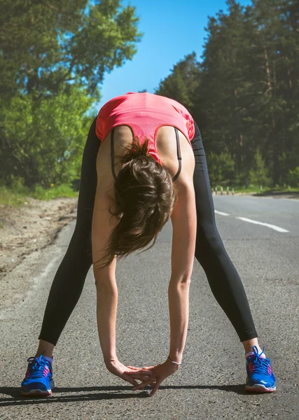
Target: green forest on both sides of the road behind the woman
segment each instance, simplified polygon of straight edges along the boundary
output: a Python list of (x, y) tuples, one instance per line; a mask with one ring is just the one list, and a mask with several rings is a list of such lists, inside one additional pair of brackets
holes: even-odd
[[(235, 0), (209, 17), (156, 94), (202, 132), (211, 186), (299, 186), (298, 0)], [(137, 10), (118, 0), (2, 0), (0, 183), (70, 183), (105, 73), (137, 52)], [(100, 42), (98, 41), (100, 40)]]

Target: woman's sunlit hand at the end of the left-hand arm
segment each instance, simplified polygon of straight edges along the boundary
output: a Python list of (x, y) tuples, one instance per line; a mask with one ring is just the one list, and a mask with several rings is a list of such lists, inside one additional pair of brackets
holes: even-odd
[[(151, 368), (154, 366), (148, 368), (144, 367), (143, 369), (133, 366), (127, 367), (116, 359), (109, 360), (109, 362), (106, 363), (106, 367), (109, 372), (115, 374), (121, 379), (124, 379), (124, 381), (130, 382), (130, 384), (134, 386), (138, 386), (138, 382), (135, 379), (139, 379), (139, 381), (148, 380), (152, 375)], [(134, 377), (132, 375), (134, 375)]]

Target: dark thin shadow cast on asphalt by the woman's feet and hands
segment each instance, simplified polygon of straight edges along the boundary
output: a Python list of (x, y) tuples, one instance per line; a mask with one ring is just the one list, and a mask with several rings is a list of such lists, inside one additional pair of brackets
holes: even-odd
[[(148, 387), (148, 390), (151, 388)], [(238, 385), (186, 385), (186, 386), (160, 386), (159, 391), (164, 389), (218, 389), (219, 391), (233, 392), (241, 395), (249, 395), (244, 391), (244, 384)], [(131, 391), (132, 386), (88, 386), (81, 388), (55, 388), (53, 395), (49, 397), (27, 398), (20, 395), (20, 388), (13, 386), (0, 387), (0, 393), (10, 395), (10, 398), (0, 398), (0, 407), (13, 405), (48, 404), (52, 402), (76, 402), (90, 400), (118, 400), (127, 398), (147, 398), (146, 391), (123, 393)], [(90, 393), (91, 391), (95, 393)], [(75, 393), (75, 395), (65, 395)], [(79, 393), (79, 394), (78, 394)], [(83, 394), (82, 394), (83, 393)]]

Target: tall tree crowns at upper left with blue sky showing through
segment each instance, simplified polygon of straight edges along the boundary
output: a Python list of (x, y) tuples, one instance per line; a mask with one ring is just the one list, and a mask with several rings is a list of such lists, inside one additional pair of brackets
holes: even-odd
[(120, 0), (2, 0), (1, 91), (39, 97), (76, 83), (98, 97), (104, 73), (136, 52), (134, 12)]

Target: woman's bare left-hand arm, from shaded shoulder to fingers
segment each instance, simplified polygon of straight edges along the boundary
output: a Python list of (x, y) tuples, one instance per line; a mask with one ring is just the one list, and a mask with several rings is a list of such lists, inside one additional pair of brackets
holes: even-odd
[[(115, 195), (113, 193), (113, 181), (109, 173), (102, 169), (98, 170), (106, 162), (100, 162), (99, 153), (97, 155), (97, 190), (95, 194), (95, 204), (92, 217), (92, 265), (97, 288), (97, 328), (99, 332), (99, 342), (101, 344), (104, 361), (107, 369), (116, 376), (137, 386), (137, 381), (130, 376), (134, 374), (137, 379), (151, 377), (152, 372), (142, 370), (137, 367), (127, 367), (120, 363), (116, 355), (116, 312), (118, 305), (118, 289), (116, 286), (116, 258), (113, 259), (108, 267), (101, 268), (101, 258), (104, 256), (111, 231), (116, 227), (118, 219), (111, 216), (111, 211), (115, 211)], [(98, 263), (99, 262), (99, 263)]]

